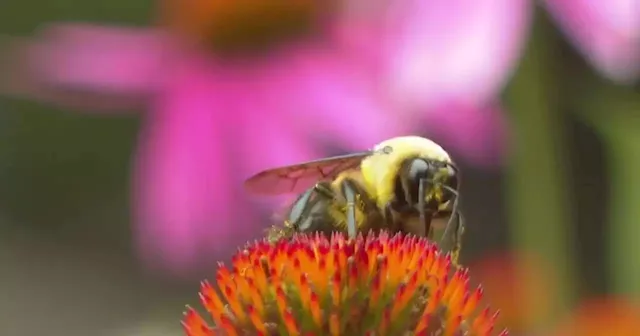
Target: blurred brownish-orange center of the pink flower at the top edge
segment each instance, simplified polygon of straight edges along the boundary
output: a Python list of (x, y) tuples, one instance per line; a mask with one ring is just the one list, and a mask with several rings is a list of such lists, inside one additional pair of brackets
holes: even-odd
[(316, 32), (327, 0), (168, 0), (166, 23), (217, 53), (255, 52)]

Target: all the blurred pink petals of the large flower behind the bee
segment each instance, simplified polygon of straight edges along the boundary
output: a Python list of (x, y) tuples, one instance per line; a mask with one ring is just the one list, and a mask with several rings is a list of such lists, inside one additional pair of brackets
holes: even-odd
[(259, 234), (238, 226), (259, 222), (247, 218), (240, 181), (317, 157), (313, 139), (362, 150), (424, 130), (415, 119), (424, 116), (459, 153), (492, 161), (479, 143), (502, 130), (484, 119), (499, 116), (492, 99), (525, 40), (529, 3), (363, 1), (340, 2), (315, 38), (248, 58), (205, 43), (226, 41), (207, 40), (215, 21), (207, 13), (237, 28), (224, 26), (224, 10), (254, 0), (170, 1), (186, 10), (165, 11), (162, 28), (53, 25), (12, 49), (2, 90), (92, 110), (148, 106), (134, 171), (136, 237), (147, 262), (187, 269), (207, 249), (236, 245), (228, 238), (237, 232)]

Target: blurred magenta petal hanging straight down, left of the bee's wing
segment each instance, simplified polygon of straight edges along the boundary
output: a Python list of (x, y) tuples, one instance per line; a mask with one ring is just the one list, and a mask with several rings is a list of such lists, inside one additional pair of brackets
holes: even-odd
[[(151, 266), (185, 271), (211, 245), (228, 247), (233, 134), (220, 122), (224, 95), (207, 72), (174, 64), (166, 91), (154, 102), (141, 133), (135, 171), (137, 240)], [(212, 256), (214, 257), (214, 256)]]

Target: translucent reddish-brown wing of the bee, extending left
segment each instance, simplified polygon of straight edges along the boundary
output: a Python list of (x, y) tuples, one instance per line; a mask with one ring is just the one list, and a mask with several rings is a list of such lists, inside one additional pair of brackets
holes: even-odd
[(330, 180), (345, 170), (357, 168), (375, 151), (347, 154), (262, 171), (247, 179), (245, 188), (254, 194), (300, 193), (316, 182)]

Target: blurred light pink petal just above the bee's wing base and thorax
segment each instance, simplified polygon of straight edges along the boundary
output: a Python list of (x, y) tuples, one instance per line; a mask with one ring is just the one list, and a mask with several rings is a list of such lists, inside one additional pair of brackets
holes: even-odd
[(309, 50), (290, 60), (286, 76), (277, 82), (277, 97), (289, 105), (283, 110), (296, 120), (298, 129), (346, 148), (365, 150), (413, 125), (398, 118), (376, 86), (377, 78), (352, 56)]

